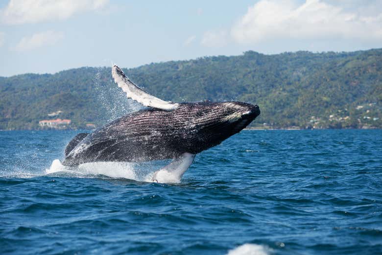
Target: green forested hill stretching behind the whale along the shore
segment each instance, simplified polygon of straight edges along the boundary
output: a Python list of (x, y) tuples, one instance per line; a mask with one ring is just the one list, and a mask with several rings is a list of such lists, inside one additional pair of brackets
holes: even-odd
[[(252, 126), (382, 128), (382, 49), (299, 51), (170, 61), (124, 70), (148, 93), (171, 101), (235, 100), (261, 109)], [(111, 68), (0, 77), (0, 129), (37, 129), (62, 111), (72, 128), (97, 126), (136, 104), (112, 82)], [(55, 116), (57, 117), (57, 116)]]

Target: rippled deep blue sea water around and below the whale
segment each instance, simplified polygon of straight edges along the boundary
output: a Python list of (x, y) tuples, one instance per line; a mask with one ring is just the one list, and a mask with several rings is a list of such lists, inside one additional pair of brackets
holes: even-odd
[(382, 254), (382, 130), (242, 131), (180, 184), (47, 174), (74, 134), (0, 132), (0, 254)]

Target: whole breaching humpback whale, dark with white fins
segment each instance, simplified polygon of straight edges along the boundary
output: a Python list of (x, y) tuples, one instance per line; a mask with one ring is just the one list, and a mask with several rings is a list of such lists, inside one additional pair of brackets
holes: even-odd
[(152, 180), (177, 181), (197, 153), (239, 133), (260, 115), (259, 106), (242, 102), (164, 101), (143, 91), (116, 65), (112, 76), (128, 98), (147, 108), (76, 135), (65, 149), (63, 165), (173, 159)]

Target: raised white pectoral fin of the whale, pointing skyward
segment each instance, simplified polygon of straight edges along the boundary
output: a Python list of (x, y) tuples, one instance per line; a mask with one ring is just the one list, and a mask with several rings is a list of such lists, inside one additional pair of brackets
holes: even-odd
[(118, 87), (126, 93), (127, 98), (131, 98), (144, 106), (158, 108), (165, 111), (173, 111), (179, 106), (178, 103), (164, 101), (145, 92), (143, 89), (130, 81), (130, 79), (126, 77), (125, 73), (117, 65), (113, 66), (112, 75), (114, 81), (118, 84)]

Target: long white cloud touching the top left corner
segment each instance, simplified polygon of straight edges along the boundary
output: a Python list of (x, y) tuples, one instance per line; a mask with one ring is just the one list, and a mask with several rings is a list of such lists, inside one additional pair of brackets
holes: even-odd
[(75, 13), (103, 7), (109, 0), (10, 0), (0, 11), (7, 24), (65, 20)]

